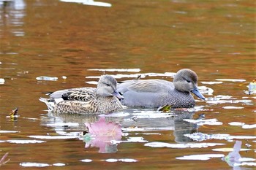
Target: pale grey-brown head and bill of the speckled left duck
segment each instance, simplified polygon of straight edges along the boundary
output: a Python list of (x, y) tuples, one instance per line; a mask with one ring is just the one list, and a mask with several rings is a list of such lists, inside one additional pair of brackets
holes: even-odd
[(97, 85), (97, 94), (99, 96), (111, 97), (116, 96), (119, 99), (124, 98), (121, 96), (116, 90), (116, 79), (110, 75), (102, 75), (99, 78), (99, 82)]

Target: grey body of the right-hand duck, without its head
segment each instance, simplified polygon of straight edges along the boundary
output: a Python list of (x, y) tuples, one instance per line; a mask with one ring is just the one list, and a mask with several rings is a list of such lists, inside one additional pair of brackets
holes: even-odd
[(166, 80), (129, 80), (118, 85), (124, 99), (121, 104), (127, 107), (194, 107), (190, 93), (174, 88), (173, 82)]

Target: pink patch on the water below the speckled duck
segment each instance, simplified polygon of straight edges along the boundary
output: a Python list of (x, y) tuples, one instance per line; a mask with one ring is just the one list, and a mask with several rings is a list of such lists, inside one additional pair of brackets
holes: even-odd
[(99, 152), (117, 152), (117, 144), (112, 140), (121, 140), (121, 125), (118, 123), (106, 122), (105, 117), (99, 117), (95, 123), (85, 123), (88, 133), (83, 136), (86, 142), (85, 147), (99, 147)]

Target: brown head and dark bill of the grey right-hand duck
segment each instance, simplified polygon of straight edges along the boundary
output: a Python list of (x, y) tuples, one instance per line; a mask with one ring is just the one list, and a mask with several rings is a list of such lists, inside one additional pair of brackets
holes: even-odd
[(173, 79), (173, 85), (176, 90), (182, 92), (194, 93), (198, 98), (205, 99), (197, 88), (198, 77), (191, 69), (181, 69), (177, 72)]

